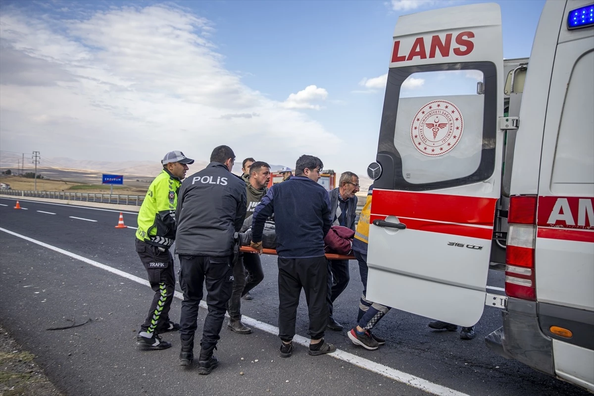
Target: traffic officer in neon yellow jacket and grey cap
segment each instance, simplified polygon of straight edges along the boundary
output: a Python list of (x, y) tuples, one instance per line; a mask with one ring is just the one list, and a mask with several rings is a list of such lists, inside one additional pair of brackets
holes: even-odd
[(184, 156), (181, 151), (170, 151), (161, 163), (163, 170), (149, 186), (138, 212), (136, 230), (136, 251), (155, 292), (149, 315), (136, 338), (136, 345), (141, 349), (169, 348), (171, 344), (162, 341), (159, 333), (179, 330), (179, 325), (169, 320), (169, 308), (175, 291), (173, 257), (169, 248), (175, 239), (175, 207), (179, 185), (185, 178), (188, 164), (194, 163), (194, 160)]

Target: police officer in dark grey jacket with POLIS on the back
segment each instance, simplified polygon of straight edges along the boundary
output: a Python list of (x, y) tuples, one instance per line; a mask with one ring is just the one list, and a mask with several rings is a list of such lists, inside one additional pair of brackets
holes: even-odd
[(216, 147), (210, 164), (189, 176), (179, 191), (175, 252), (179, 255), (179, 284), (184, 292), (179, 360), (180, 365), (188, 366), (194, 359), (194, 332), (206, 281), (208, 313), (200, 341), (199, 374), (208, 374), (219, 364), (213, 350), (231, 296), (236, 233), (245, 218), (245, 182), (231, 173), (233, 163), (231, 148)]

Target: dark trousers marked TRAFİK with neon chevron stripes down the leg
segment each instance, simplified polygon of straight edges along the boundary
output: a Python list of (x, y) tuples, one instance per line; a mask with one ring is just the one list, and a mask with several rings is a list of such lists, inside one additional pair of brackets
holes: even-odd
[(149, 314), (140, 331), (157, 334), (169, 327), (169, 309), (175, 292), (175, 271), (173, 257), (169, 249), (164, 252), (156, 246), (136, 239), (136, 252), (149, 275), (149, 283), (154, 291)]

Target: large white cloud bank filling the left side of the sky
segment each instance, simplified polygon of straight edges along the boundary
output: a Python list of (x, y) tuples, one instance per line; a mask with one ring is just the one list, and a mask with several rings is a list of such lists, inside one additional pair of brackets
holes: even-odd
[(293, 110), (319, 108), (327, 91), (311, 85), (286, 102), (268, 99), (225, 68), (204, 18), (175, 5), (86, 9), (77, 19), (33, 11), (7, 6), (0, 15), (5, 150), (103, 160), (182, 150), (208, 159), (228, 144), (270, 163), (340, 157), (342, 140)]

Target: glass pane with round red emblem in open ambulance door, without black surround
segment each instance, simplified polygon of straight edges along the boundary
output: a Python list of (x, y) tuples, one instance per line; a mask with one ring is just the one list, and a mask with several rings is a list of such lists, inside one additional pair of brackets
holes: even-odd
[(413, 184), (472, 175), (481, 163), (484, 95), (478, 70), (413, 73), (402, 83), (394, 146)]

